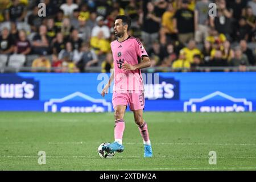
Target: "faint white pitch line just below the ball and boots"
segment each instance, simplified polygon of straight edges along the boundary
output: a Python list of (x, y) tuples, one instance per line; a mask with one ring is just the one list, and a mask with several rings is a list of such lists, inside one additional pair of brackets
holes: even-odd
[[(39, 158), (35, 155), (0, 155), (0, 158)], [(46, 156), (46, 158), (89, 158), (89, 159), (100, 159), (98, 156)], [(142, 156), (115, 156), (115, 158), (143, 158)], [(154, 158), (205, 158), (208, 159), (208, 156), (156, 156)], [(256, 156), (218, 156), (217, 158), (240, 158), (240, 159), (256, 159)]]

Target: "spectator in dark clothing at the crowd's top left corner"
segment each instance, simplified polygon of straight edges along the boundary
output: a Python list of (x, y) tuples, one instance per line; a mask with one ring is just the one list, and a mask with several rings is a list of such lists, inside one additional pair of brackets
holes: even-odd
[(12, 5), (6, 9), (5, 20), (11, 22), (23, 22), (27, 15), (27, 10), (19, 0), (12, 0)]

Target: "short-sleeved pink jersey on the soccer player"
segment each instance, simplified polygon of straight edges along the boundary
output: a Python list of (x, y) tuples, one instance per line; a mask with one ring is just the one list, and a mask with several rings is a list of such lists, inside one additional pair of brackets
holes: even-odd
[(139, 64), (143, 56), (148, 56), (142, 43), (132, 36), (123, 42), (118, 40), (111, 44), (114, 61), (114, 88), (113, 91), (144, 90), (141, 69), (123, 71), (122, 64)]

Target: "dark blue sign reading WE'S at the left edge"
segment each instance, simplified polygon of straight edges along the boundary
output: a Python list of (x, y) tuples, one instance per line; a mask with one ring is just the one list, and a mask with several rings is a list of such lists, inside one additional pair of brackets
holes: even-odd
[(39, 100), (39, 81), (17, 75), (1, 75), (0, 100)]

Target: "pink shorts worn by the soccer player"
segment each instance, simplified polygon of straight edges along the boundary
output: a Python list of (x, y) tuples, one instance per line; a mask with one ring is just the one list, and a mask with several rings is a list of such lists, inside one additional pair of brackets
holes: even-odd
[(125, 105), (129, 104), (130, 110), (139, 110), (144, 109), (145, 105), (145, 98), (143, 90), (139, 90), (139, 93), (121, 93), (121, 92), (114, 92), (112, 97), (112, 104), (113, 108), (115, 109), (118, 105)]

